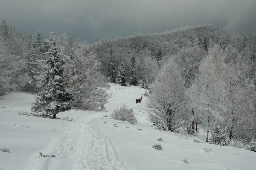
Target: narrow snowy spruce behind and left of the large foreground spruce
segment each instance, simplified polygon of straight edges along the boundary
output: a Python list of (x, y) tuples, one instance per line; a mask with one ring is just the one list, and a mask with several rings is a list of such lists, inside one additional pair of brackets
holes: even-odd
[(28, 54), (27, 54), (27, 62), (28, 62), (28, 76), (31, 78), (30, 81), (24, 87), (25, 91), (35, 92), (37, 91), (36, 82), (39, 80), (39, 61), (38, 61), (38, 51), (36, 51), (35, 43), (33, 40), (33, 35), (28, 34)]

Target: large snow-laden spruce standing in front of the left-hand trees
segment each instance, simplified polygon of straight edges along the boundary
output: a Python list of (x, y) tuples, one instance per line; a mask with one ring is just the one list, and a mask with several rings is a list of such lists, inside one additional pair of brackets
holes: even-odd
[(71, 109), (74, 93), (65, 90), (62, 66), (66, 60), (61, 60), (61, 50), (52, 32), (47, 42), (50, 48), (45, 53), (47, 59), (44, 63), (48, 70), (42, 73), (42, 80), (37, 83), (42, 91), (36, 95), (31, 112), (40, 112), (41, 116), (53, 114), (53, 118), (56, 118), (59, 112)]

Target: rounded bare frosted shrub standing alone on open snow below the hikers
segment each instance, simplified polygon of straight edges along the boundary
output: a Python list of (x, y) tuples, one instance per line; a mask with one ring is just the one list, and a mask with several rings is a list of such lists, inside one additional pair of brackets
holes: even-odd
[(134, 113), (128, 109), (125, 104), (118, 109), (114, 109), (110, 117), (115, 120), (121, 120), (122, 122), (127, 121), (131, 124), (138, 123)]

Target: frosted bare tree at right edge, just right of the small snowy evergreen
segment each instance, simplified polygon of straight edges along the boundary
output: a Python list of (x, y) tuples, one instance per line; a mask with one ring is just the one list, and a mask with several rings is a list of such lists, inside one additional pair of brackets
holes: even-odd
[(229, 133), (229, 141), (233, 139), (237, 145), (240, 142), (248, 143), (254, 137), (249, 132), (254, 129), (255, 112), (252, 112), (252, 106), (255, 102), (255, 90), (245, 86), (245, 76), (241, 74), (241, 68), (234, 62), (226, 64), (222, 74), (226, 91), (224, 123)]

